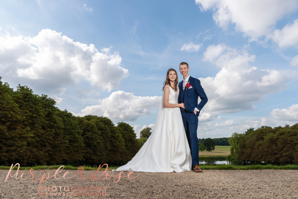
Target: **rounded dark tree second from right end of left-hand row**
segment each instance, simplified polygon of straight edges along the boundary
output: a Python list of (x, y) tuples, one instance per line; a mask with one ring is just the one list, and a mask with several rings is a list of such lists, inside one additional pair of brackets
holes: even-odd
[(107, 117), (87, 115), (80, 118), (87, 164), (120, 164), (125, 161), (125, 140)]

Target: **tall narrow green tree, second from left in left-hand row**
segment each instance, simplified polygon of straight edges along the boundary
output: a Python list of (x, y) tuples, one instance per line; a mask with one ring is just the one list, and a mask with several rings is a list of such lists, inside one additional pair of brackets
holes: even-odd
[(30, 164), (47, 164), (49, 153), (53, 153), (51, 147), (53, 136), (47, 128), (48, 121), (45, 117), (45, 108), (42, 107), (42, 99), (33, 94), (32, 89), (20, 84), (13, 93), (12, 98), (18, 104), (21, 115), (24, 117), (22, 128), (26, 129), (26, 133), (23, 135), (30, 135), (30, 142), (26, 143), (27, 147), (30, 147), (30, 152), (22, 157), (20, 163), (27, 166)]

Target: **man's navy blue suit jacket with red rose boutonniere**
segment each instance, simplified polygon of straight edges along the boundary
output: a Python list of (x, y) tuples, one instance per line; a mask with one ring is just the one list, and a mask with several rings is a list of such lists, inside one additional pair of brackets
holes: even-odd
[[(193, 112), (195, 108), (199, 110), (197, 116), (199, 116), (201, 109), (207, 103), (208, 98), (205, 94), (204, 89), (201, 86), (200, 80), (197, 78), (189, 77), (188, 81), (190, 82), (193, 88), (185, 88), (183, 90), (183, 80), (179, 83), (179, 96), (178, 103), (184, 103), (186, 111)], [(200, 97), (201, 102), (198, 104), (198, 97)], [(180, 108), (184, 110), (183, 108)]]

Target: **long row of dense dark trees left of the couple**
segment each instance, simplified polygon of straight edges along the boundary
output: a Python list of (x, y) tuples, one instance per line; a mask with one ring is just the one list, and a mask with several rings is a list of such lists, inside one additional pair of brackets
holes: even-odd
[(115, 126), (102, 116), (73, 116), (55, 104), (27, 86), (13, 91), (0, 77), (0, 165), (119, 165), (140, 149), (130, 125)]

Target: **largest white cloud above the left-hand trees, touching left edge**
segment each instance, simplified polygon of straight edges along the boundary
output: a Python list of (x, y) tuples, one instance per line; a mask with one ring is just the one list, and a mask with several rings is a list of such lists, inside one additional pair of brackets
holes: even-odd
[(52, 95), (81, 81), (110, 92), (128, 76), (119, 53), (106, 48), (99, 52), (93, 44), (75, 42), (51, 29), (42, 29), (35, 37), (3, 35), (0, 43), (1, 73), (31, 80)]

